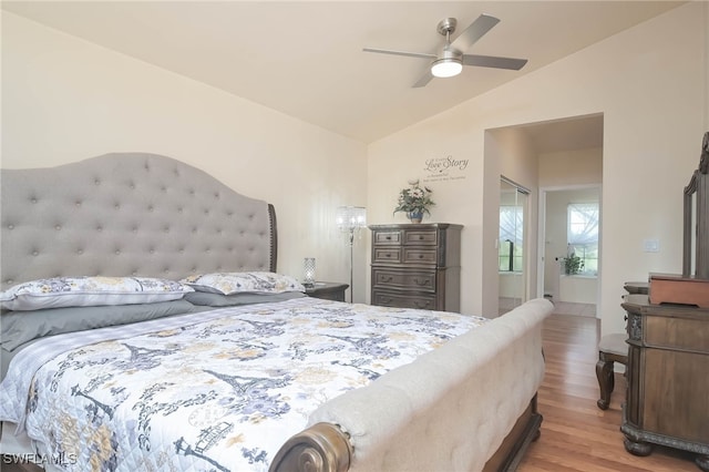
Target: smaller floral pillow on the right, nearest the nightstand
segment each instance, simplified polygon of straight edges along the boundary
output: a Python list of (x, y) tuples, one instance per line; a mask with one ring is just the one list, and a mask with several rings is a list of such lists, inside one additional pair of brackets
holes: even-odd
[(267, 271), (214, 273), (195, 275), (182, 280), (197, 291), (213, 294), (282, 294), (285, 291), (306, 291), (295, 278)]

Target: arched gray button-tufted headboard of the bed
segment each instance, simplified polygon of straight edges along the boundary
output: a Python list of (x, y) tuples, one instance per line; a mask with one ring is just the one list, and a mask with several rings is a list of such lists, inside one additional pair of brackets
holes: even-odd
[(56, 276), (276, 271), (276, 217), (169, 157), (114, 153), (0, 171), (1, 289)]

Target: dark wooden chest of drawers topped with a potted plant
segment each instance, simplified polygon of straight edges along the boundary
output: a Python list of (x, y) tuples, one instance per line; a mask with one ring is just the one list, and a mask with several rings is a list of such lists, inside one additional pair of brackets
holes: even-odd
[(371, 302), (460, 311), (461, 225), (371, 225)]

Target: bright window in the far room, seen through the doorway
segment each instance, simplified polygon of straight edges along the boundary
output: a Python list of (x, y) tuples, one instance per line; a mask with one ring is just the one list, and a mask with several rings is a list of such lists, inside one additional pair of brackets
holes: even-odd
[(583, 261), (584, 275), (598, 274), (598, 204), (568, 204), (567, 256)]

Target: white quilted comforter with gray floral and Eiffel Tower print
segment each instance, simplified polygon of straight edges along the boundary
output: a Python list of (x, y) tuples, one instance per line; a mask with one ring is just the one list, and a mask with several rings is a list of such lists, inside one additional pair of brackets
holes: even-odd
[(0, 402), (22, 411), (0, 409), (0, 419), (24, 417), (66, 471), (267, 470), (319, 404), (485, 321), (300, 298), (183, 316), (137, 336), (113, 328), (45, 355), (27, 399), (8, 397), (22, 374), (11, 366)]

